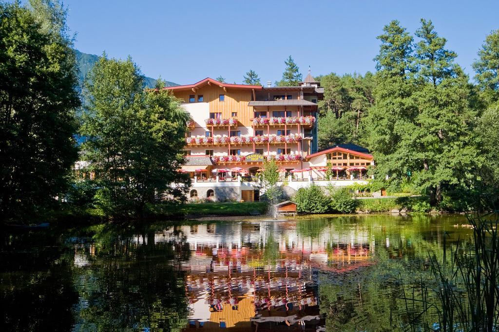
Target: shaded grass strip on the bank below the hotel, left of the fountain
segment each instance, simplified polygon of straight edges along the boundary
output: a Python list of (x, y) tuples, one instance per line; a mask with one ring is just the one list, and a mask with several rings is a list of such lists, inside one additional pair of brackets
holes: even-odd
[(188, 203), (182, 206), (186, 215), (255, 215), (267, 212), (266, 202), (233, 202), (233, 203)]

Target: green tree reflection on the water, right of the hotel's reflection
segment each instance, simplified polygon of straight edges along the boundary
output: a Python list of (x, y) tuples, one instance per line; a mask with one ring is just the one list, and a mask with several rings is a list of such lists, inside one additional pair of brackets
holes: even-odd
[[(386, 215), (349, 220), (342, 218), (331, 224), (330, 232), (347, 234), (352, 229), (367, 232), (374, 240), (372, 259), (376, 264), (346, 274), (323, 277), (319, 287), (320, 310), (326, 314), (331, 331), (391, 331), (413, 319), (403, 300), (417, 295), (418, 283), (429, 279), (428, 253), (443, 259), (444, 234), (455, 250), (458, 239), (470, 241), (469, 229), (453, 227), (452, 217), (441, 217), (434, 223), (427, 216), (414, 218)], [(389, 239), (389, 245), (387, 244)], [(450, 255), (449, 255), (450, 256)], [(417, 297), (417, 296), (416, 296)]]

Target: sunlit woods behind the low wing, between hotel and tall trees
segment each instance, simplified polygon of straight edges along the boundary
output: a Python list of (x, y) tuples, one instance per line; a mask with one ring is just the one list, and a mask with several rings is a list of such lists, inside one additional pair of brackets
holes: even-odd
[(334, 144), (362, 143), (364, 118), (374, 104), (374, 76), (334, 73), (320, 76), (324, 100), (319, 102), (318, 144), (321, 149)]

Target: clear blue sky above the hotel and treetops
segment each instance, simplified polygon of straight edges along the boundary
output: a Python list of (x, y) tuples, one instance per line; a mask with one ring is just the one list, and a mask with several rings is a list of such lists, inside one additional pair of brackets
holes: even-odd
[[(279, 80), (292, 55), (303, 74), (374, 71), (376, 36), (392, 19), (414, 32), (431, 19), (457, 62), (471, 67), (499, 29), (499, 1), (115, 1), (66, 0), (82, 52), (125, 58), (146, 76), (189, 84), (222, 75), (241, 83), (253, 69)], [(480, 3), (480, 4), (479, 4)]]

